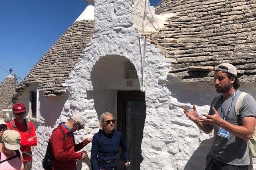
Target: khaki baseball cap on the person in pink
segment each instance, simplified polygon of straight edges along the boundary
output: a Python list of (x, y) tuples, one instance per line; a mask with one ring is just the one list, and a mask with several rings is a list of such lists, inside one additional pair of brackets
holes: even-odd
[(2, 140), (8, 150), (18, 150), (21, 148), (21, 135), (15, 130), (6, 130), (3, 133)]

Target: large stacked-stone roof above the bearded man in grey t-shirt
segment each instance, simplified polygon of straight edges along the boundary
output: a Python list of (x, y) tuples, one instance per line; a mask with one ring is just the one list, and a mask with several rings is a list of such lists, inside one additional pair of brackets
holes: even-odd
[(176, 14), (150, 37), (172, 62), (169, 76), (213, 82), (214, 67), (226, 62), (241, 82), (256, 82), (255, 0), (162, 0), (155, 12)]

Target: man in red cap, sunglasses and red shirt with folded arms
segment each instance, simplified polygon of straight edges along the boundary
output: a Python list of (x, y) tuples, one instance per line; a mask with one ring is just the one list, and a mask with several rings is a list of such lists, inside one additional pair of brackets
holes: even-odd
[(31, 147), (37, 146), (37, 136), (32, 122), (25, 118), (26, 108), (23, 103), (16, 103), (12, 107), (14, 120), (7, 122), (8, 129), (14, 129), (21, 134), (21, 152), (24, 158), (24, 169), (32, 169)]

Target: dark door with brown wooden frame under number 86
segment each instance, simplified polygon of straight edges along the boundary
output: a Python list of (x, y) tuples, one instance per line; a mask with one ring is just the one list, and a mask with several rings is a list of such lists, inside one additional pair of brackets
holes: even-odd
[(146, 119), (145, 93), (117, 91), (117, 130), (121, 131), (130, 148), (128, 169), (139, 170), (142, 162), (141, 142)]

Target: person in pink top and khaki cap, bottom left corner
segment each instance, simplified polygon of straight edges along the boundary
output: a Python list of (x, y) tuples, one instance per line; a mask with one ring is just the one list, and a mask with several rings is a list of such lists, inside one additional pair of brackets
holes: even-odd
[(21, 135), (15, 130), (6, 130), (0, 144), (0, 169), (24, 170)]

